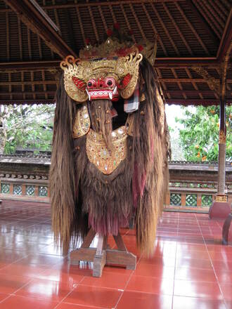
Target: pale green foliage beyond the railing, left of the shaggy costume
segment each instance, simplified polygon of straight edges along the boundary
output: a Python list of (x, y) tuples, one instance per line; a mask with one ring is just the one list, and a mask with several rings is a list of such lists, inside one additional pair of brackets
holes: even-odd
[(4, 153), (17, 147), (51, 150), (54, 105), (5, 105), (1, 110), (6, 132)]

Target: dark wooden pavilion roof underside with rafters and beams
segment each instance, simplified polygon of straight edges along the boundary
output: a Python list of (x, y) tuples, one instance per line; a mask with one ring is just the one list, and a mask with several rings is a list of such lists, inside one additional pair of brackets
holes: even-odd
[[(155, 67), (167, 103), (219, 103), (220, 70), (231, 50), (229, 0), (0, 0), (0, 103), (51, 103), (59, 63), (103, 41), (115, 22), (135, 41), (158, 36)], [(231, 63), (231, 60), (228, 60)], [(232, 103), (232, 68), (226, 96)]]

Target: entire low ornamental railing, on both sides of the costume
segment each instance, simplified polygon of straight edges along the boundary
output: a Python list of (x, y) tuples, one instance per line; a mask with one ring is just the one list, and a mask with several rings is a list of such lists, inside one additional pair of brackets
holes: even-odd
[[(49, 202), (50, 157), (0, 155), (0, 198)], [(217, 163), (169, 162), (166, 210), (208, 211), (217, 193)], [(232, 196), (232, 166), (226, 164), (226, 190)]]

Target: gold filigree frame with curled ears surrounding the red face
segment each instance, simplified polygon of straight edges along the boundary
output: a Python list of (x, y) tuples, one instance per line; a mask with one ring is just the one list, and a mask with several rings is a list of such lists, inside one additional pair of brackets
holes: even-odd
[[(129, 55), (117, 59), (80, 60), (68, 55), (60, 63), (64, 71), (65, 91), (68, 96), (78, 103), (88, 99), (86, 84), (89, 79), (100, 77), (114, 77), (117, 84), (129, 74), (130, 81), (127, 86), (119, 89), (122, 98), (132, 96), (138, 80), (138, 66), (143, 55), (138, 53), (138, 48), (133, 48)], [(76, 84), (75, 84), (75, 81)]]

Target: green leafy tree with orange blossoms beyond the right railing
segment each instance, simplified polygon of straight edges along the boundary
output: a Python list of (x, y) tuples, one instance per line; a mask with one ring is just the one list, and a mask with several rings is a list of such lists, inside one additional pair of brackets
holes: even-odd
[[(217, 161), (219, 155), (219, 106), (183, 107), (183, 117), (176, 122), (180, 130), (183, 154), (187, 161)], [(226, 159), (232, 159), (232, 107), (226, 107)]]

